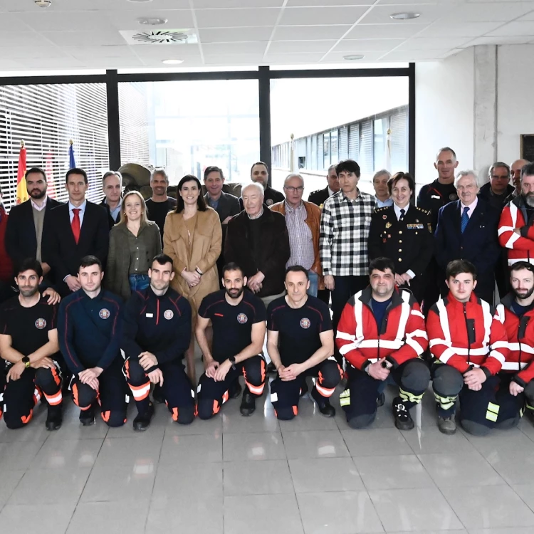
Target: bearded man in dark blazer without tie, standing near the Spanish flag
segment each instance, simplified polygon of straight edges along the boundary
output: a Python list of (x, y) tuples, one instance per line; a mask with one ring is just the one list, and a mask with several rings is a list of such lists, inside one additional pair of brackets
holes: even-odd
[(61, 203), (46, 194), (46, 174), (32, 167), (26, 172), (26, 202), (11, 208), (6, 228), (6, 250), (19, 266), (26, 258), (35, 258), (43, 268), (44, 285), (49, 285), (51, 266), (43, 261), (43, 242), (50, 226), (51, 210)]

